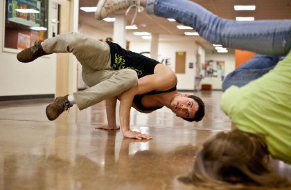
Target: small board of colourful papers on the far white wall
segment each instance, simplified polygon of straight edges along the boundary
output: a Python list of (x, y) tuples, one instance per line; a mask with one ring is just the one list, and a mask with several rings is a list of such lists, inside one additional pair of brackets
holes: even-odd
[(206, 61), (202, 68), (204, 70), (204, 77), (221, 77), (224, 79), (225, 75), (224, 61)]

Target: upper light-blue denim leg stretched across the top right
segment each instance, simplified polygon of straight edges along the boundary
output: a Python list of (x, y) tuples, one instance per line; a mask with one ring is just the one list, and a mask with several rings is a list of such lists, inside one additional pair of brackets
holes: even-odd
[(272, 56), (287, 55), (291, 48), (291, 20), (233, 21), (221, 19), (187, 0), (148, 0), (148, 14), (173, 18), (191, 26), (212, 44)]

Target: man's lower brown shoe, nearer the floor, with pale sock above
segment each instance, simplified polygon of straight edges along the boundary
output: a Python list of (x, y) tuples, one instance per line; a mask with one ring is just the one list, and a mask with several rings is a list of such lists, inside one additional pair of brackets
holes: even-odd
[(57, 119), (65, 110), (69, 110), (69, 108), (71, 108), (71, 105), (68, 100), (68, 95), (57, 97), (55, 98), (55, 102), (53, 102), (53, 104), (46, 106), (46, 117), (48, 117), (48, 120), (53, 121)]

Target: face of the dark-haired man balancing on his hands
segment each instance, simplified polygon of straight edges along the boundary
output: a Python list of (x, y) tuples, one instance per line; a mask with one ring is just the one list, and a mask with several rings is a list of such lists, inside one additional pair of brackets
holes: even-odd
[(186, 94), (177, 96), (170, 102), (170, 109), (177, 117), (184, 117), (186, 119), (195, 117), (199, 105), (194, 99), (188, 98), (188, 96)]

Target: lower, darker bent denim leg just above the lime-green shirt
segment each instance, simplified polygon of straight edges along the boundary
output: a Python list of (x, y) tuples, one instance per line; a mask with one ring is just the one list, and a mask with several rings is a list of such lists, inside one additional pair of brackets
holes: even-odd
[(279, 57), (271, 57), (256, 54), (252, 59), (241, 64), (232, 73), (229, 73), (222, 82), (222, 91), (229, 86), (244, 86), (249, 82), (258, 79), (273, 69), (279, 61)]

